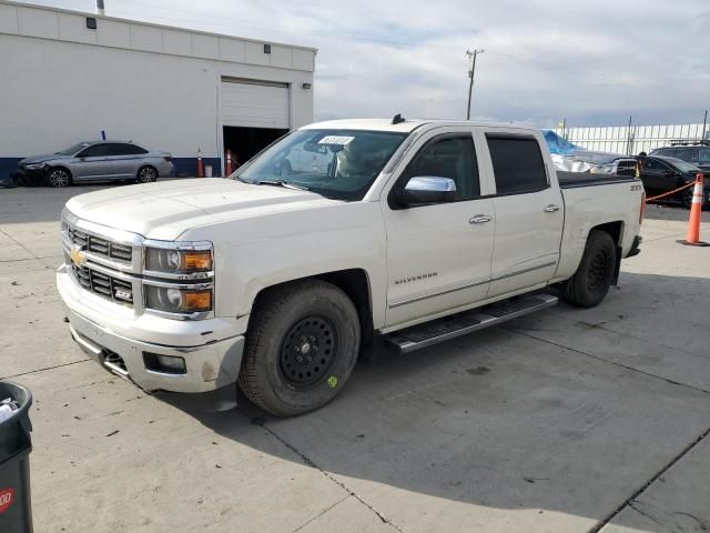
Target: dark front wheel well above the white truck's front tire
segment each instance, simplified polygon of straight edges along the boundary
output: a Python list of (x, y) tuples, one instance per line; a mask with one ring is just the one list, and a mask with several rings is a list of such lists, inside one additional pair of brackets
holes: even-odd
[(341, 289), (347, 298), (349, 298), (355, 304), (357, 315), (359, 318), (361, 331), (362, 331), (362, 344), (367, 345), (374, 338), (373, 328), (373, 313), (372, 301), (369, 298), (369, 280), (367, 273), (363, 269), (348, 269), (338, 270), (335, 272), (324, 272), (322, 274), (310, 275), (306, 278), (300, 278), (296, 280), (288, 280), (283, 283), (266, 286), (256, 294), (255, 301), (264, 293), (264, 291), (272, 291), (278, 289), (282, 285), (303, 281), (307, 279), (323, 280)]

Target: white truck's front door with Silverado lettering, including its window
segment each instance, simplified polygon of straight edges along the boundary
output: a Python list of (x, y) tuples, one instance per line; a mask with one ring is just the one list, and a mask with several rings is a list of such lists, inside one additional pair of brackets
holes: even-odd
[[(424, 135), (415, 149), (389, 201), (382, 202), (388, 328), (483, 300), (490, 279), (493, 200), (480, 198), (471, 131), (442, 128)], [(414, 177), (454, 180), (456, 201), (399, 209), (392, 199)]]

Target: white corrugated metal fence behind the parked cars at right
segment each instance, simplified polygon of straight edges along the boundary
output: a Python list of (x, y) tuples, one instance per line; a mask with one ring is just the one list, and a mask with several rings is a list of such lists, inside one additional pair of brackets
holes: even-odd
[[(558, 135), (588, 150), (636, 154), (655, 148), (667, 147), (674, 140), (700, 140), (702, 124), (626, 125), (600, 128), (561, 128)], [(710, 124), (706, 125), (706, 139), (710, 139)]]

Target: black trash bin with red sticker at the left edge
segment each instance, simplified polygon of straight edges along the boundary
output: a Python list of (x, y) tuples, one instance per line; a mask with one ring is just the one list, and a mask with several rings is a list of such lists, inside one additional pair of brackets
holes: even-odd
[(0, 422), (0, 532), (31, 533), (30, 501), (30, 405), (29, 389), (0, 381), (0, 402), (14, 400), (20, 409)]

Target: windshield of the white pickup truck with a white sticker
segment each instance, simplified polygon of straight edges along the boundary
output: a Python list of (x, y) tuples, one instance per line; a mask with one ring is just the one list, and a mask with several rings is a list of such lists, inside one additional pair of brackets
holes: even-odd
[(292, 184), (338, 200), (362, 200), (406, 137), (385, 131), (298, 130), (232, 178)]

